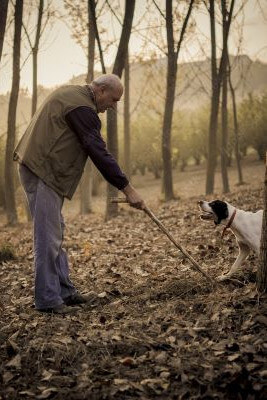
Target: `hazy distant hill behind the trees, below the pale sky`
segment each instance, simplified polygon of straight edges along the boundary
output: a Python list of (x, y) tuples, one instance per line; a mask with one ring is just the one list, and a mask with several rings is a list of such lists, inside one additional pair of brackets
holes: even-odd
[[(237, 100), (248, 93), (260, 94), (267, 90), (267, 64), (252, 61), (248, 56), (231, 57), (232, 81)], [(130, 66), (131, 110), (133, 118), (140, 114), (163, 113), (166, 80), (166, 58)], [(96, 75), (99, 73), (96, 73)], [(85, 75), (73, 77), (67, 84), (84, 84)], [(209, 102), (211, 89), (210, 60), (182, 63), (178, 66), (175, 109), (194, 109)], [(53, 89), (39, 86), (39, 104)], [(0, 95), (0, 135), (6, 130), (9, 95)], [(121, 107), (121, 106), (120, 106)], [(22, 132), (30, 120), (30, 94), (22, 89), (18, 103), (18, 127)], [(119, 111), (121, 111), (119, 109)]]

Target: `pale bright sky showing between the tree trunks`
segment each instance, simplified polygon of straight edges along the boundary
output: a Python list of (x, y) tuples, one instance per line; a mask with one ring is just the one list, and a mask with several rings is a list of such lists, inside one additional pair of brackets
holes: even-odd
[[(101, 2), (100, 2), (101, 3)], [(175, 3), (175, 2), (174, 2)], [(144, 0), (136, 0), (135, 23), (138, 21), (140, 33), (144, 33), (142, 28), (146, 25), (146, 21), (151, 18), (153, 24), (157, 24), (161, 16), (157, 10), (146, 17), (142, 18), (145, 13)], [(158, 4), (164, 4), (159, 0)], [(236, 10), (241, 4), (241, 0), (236, 0)], [(260, 7), (259, 7), (260, 4)], [(63, 20), (57, 19), (53, 27), (47, 27), (46, 34), (43, 37), (43, 42), (40, 46), (39, 63), (38, 63), (38, 83), (52, 87), (66, 83), (73, 76), (86, 72), (86, 55), (82, 48), (71, 37), (71, 31), (66, 25), (69, 21), (66, 11), (63, 7), (63, 0), (53, 0), (53, 5), (58, 12), (65, 14)], [(247, 54), (253, 60), (260, 60), (267, 63), (267, 0), (247, 0), (244, 12), (240, 14), (239, 21), (244, 18), (243, 28), (243, 44), (242, 53)], [(152, 8), (151, 8), (152, 9)], [(12, 11), (12, 10), (9, 10)], [(33, 15), (36, 18), (36, 16)], [(26, 18), (26, 17), (24, 17)], [(209, 56), (208, 38), (209, 38), (209, 20), (206, 12), (203, 9), (194, 13), (196, 20), (196, 30), (193, 35), (188, 37), (186, 46), (181, 52), (181, 62), (194, 61), (203, 59)], [(109, 35), (114, 36), (119, 34), (120, 26), (115, 21), (115, 18), (108, 16), (102, 17), (102, 26), (107, 30), (110, 29)], [(113, 23), (114, 27), (111, 28)], [(218, 37), (220, 31), (218, 30)], [(238, 34), (232, 32), (230, 35), (229, 50), (231, 54), (236, 53), (238, 42)], [(143, 38), (139, 34), (132, 35), (130, 41), (130, 53), (132, 58), (138, 56), (143, 49)], [(201, 45), (201, 46), (200, 46)], [(152, 43), (146, 44), (147, 49), (153, 49)], [(203, 52), (205, 49), (205, 54)], [(105, 52), (106, 63), (111, 64), (114, 59), (116, 47), (111, 46), (109, 52)], [(0, 65), (0, 93), (6, 93), (11, 88), (12, 78), (12, 32), (8, 32), (4, 42), (3, 49), (4, 57), (2, 57)], [(28, 88), (31, 91), (32, 80), (32, 65), (31, 57), (25, 58), (28, 55), (26, 45), (22, 46), (23, 66), (21, 69), (21, 87)], [(163, 56), (163, 53), (159, 53)]]

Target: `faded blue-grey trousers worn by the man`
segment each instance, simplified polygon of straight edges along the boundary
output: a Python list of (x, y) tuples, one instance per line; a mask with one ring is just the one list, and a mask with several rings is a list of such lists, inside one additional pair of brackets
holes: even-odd
[(64, 199), (25, 165), (19, 165), (19, 175), (33, 218), (35, 307), (55, 307), (76, 293), (69, 279), (67, 254), (62, 249)]

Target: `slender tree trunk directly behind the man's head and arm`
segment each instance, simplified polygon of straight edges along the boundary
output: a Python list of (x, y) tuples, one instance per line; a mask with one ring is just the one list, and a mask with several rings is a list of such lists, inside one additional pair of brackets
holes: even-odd
[[(92, 3), (90, 5), (90, 2)], [(87, 71), (87, 83), (92, 82), (94, 79), (94, 59), (95, 59), (95, 27), (94, 27), (94, 15), (95, 12), (91, 12), (92, 7), (95, 10), (95, 0), (88, 0), (88, 71)], [(84, 173), (80, 183), (80, 213), (89, 214), (93, 211), (92, 206), (92, 190), (93, 190), (93, 163), (88, 158)]]

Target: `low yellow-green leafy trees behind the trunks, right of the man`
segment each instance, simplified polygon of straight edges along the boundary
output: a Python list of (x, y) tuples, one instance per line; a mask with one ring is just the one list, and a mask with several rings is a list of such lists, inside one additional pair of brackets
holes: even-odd
[[(249, 149), (257, 152), (259, 160), (265, 159), (267, 148), (267, 94), (262, 96), (249, 95), (237, 107), (239, 122), (239, 162), (246, 156)], [(208, 159), (207, 140), (209, 132), (208, 105), (197, 110), (174, 112), (172, 125), (172, 168), (181, 171), (188, 163), (199, 165)], [(219, 114), (220, 117), (220, 114)], [(233, 165), (236, 151), (236, 136), (234, 113), (229, 112), (229, 127), (227, 148), (224, 149), (227, 167)], [(160, 178), (164, 169), (161, 156), (160, 117), (144, 116), (132, 121), (132, 171), (144, 173), (153, 172), (155, 178)], [(218, 129), (218, 142), (222, 141), (222, 128)], [(217, 143), (216, 156), (220, 158), (221, 147)], [(238, 183), (242, 183), (238, 176)]]

